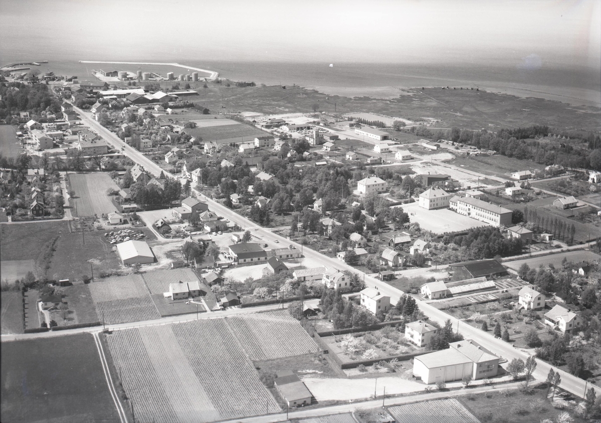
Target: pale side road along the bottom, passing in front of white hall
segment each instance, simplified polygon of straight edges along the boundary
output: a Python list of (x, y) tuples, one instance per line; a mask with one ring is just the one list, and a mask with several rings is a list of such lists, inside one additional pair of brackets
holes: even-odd
[(498, 387), (493, 386), (482, 386), (474, 387), (471, 389), (460, 389), (459, 391), (443, 391), (443, 392), (429, 392), (428, 394), (419, 395), (407, 395), (406, 397), (397, 398), (386, 398), (382, 401), (382, 398), (370, 401), (358, 401), (350, 404), (343, 404), (341, 406), (330, 406), (316, 409), (307, 410), (295, 410), (289, 411), (288, 413), (270, 414), (266, 416), (254, 416), (242, 419), (235, 419), (230, 421), (224, 421), (222, 423), (275, 423), (282, 422), (287, 419), (300, 419), (317, 416), (327, 416), (332, 414), (342, 414), (354, 412), (358, 409), (368, 410), (382, 407), (382, 403), (387, 406), (398, 406), (401, 404), (418, 403), (421, 401), (432, 401), (440, 400), (441, 398), (448, 397), (459, 397), (460, 395), (467, 394), (481, 394), (482, 392), (499, 392), (501, 389), (517, 389), (520, 386), (520, 382), (513, 382), (502, 384)]

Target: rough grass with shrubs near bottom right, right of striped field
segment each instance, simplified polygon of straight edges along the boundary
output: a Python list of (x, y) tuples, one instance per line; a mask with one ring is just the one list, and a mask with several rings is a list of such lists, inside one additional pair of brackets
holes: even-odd
[[(555, 409), (546, 398), (546, 392), (545, 384), (540, 384), (530, 395), (516, 390), (496, 389), (486, 394), (461, 395), (457, 399), (483, 423), (531, 423), (544, 419), (555, 422), (564, 410)], [(574, 422), (585, 421), (574, 416), (572, 410), (566, 411), (573, 416)]]

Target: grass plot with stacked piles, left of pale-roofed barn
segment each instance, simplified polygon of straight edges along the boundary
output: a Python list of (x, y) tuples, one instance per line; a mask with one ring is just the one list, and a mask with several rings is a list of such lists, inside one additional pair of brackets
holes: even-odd
[[(24, 225), (19, 225), (24, 226)], [(94, 231), (63, 233), (55, 245), (55, 252), (46, 276), (50, 279), (82, 280), (82, 275), (94, 277), (101, 273), (123, 270), (113, 245), (106, 241), (105, 232)], [(131, 270), (128, 270), (128, 272)]]

